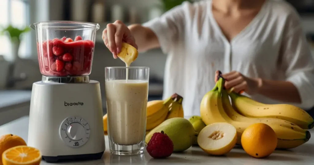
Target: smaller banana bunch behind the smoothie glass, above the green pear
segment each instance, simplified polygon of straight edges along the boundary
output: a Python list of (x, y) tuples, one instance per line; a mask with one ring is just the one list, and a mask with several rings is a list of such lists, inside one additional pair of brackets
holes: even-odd
[(147, 102), (146, 130), (151, 130), (169, 118), (183, 118), (183, 97), (173, 94), (166, 100)]

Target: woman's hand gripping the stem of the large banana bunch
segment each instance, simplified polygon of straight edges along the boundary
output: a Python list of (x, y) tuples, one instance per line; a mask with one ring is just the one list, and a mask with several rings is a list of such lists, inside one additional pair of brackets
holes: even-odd
[[(215, 82), (218, 80), (219, 71), (216, 71)], [(225, 88), (237, 93), (244, 91), (249, 95), (256, 94), (259, 88), (260, 79), (249, 78), (240, 72), (232, 71), (222, 74), (225, 79)]]

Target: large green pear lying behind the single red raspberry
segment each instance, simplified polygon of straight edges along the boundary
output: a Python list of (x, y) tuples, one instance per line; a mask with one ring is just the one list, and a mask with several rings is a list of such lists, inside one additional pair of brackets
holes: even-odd
[(145, 138), (148, 143), (155, 132), (164, 131), (173, 142), (173, 151), (181, 152), (190, 148), (198, 133), (193, 125), (185, 118), (170, 118), (152, 129)]

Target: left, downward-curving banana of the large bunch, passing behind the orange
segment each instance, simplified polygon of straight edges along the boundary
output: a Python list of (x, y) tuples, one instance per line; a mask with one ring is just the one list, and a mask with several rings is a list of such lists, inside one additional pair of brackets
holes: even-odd
[[(254, 122), (234, 121), (227, 115), (227, 113), (225, 113), (225, 110), (224, 110), (225, 105), (223, 105), (222, 96), (221, 96), (222, 83), (223, 83), (223, 80), (220, 78), (216, 86), (214, 87), (214, 89), (209, 91), (203, 97), (201, 101), (201, 107), (200, 107), (201, 118), (206, 125), (212, 124), (212, 123), (218, 123), (218, 122), (227, 122), (229, 124), (232, 124), (237, 130), (237, 136), (238, 136), (237, 144), (241, 144), (241, 135), (243, 131), (248, 126), (254, 124)], [(217, 89), (217, 86), (219, 87), (218, 89)], [(230, 102), (229, 102), (229, 105), (231, 107)], [(297, 140), (298, 142), (303, 140), (303, 143), (305, 143), (306, 141), (309, 140), (311, 136), (309, 131), (305, 131), (305, 133), (301, 133), (291, 128), (280, 126), (278, 124), (269, 124), (269, 126), (272, 127), (272, 129), (276, 132), (276, 135), (279, 141), (278, 144), (283, 144), (283, 142), (281, 143), (281, 141), (283, 140), (291, 140), (291, 142), (295, 140)], [(294, 148), (299, 145), (300, 143), (299, 144), (294, 143), (294, 144), (291, 144), (290, 146), (277, 145), (277, 147), (278, 148), (289, 148), (289, 147)]]

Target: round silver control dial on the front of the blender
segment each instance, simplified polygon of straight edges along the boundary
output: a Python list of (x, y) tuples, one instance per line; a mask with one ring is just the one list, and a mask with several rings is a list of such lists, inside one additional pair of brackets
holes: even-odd
[(83, 146), (89, 135), (89, 124), (81, 117), (68, 117), (60, 126), (60, 137), (70, 147)]

